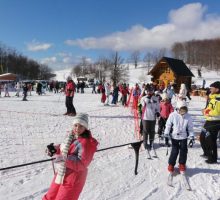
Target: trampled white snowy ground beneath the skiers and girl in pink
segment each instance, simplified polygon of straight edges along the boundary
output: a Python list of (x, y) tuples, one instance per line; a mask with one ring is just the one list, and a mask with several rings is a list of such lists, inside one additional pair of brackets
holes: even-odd
[[(33, 94), (27, 102), (21, 98), (0, 98), (0, 168), (44, 160), (45, 147), (60, 143), (71, 128), (72, 118), (63, 116), (65, 97), (48, 93)], [(76, 94), (74, 105), (78, 112), (90, 115), (89, 126), (99, 141), (99, 149), (137, 141), (134, 119), (129, 108), (121, 105), (103, 106), (99, 94)], [(189, 112), (199, 132), (204, 119), (201, 109), (205, 100), (193, 97)], [(156, 136), (157, 138), (157, 136)], [(140, 150), (138, 175), (134, 175), (135, 154), (128, 146), (95, 154), (89, 167), (86, 185), (80, 200), (217, 200), (220, 199), (220, 160), (208, 165), (201, 158), (199, 142), (189, 149), (187, 174), (192, 191), (181, 187), (180, 176), (174, 177), (174, 188), (166, 185), (166, 147), (155, 141), (159, 158), (148, 160)], [(169, 149), (170, 151), (170, 149)], [(219, 152), (220, 154), (220, 152)], [(51, 162), (0, 171), (0, 199), (40, 200), (53, 178)]]

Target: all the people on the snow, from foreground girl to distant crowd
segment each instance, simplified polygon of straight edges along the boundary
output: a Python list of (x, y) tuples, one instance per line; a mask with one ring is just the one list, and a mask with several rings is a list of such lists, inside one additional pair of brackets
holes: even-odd
[[(40, 84), (38, 84), (40, 85)], [(39, 86), (40, 87), (40, 86)], [(36, 92), (39, 92), (37, 86)], [(1, 86), (4, 89), (5, 97), (10, 97), (7, 83)], [(61, 89), (56, 83), (51, 87), (55, 93), (63, 91), (66, 100), (67, 111), (64, 115), (73, 117), (73, 131), (67, 136), (61, 145), (48, 145), (49, 156), (58, 154), (60, 165), (52, 185), (43, 197), (44, 200), (66, 198), (68, 195), (78, 199), (83, 189), (87, 166), (90, 164), (96, 151), (97, 141), (92, 137), (88, 129), (88, 115), (78, 113), (73, 105), (73, 98), (79, 92), (79, 86), (75, 84), (69, 76), (64, 87)], [(97, 88), (97, 90), (96, 90)], [(0, 89), (0, 91), (1, 91)], [(32, 87), (28, 83), (16, 83), (16, 96), (20, 96), (23, 90), (23, 101), (27, 101), (28, 91)], [(84, 88), (81, 89), (84, 93)], [(103, 105), (121, 104), (124, 107), (131, 106), (139, 114), (140, 134), (143, 145), (147, 152), (154, 149), (155, 135), (164, 145), (171, 146), (168, 159), (168, 171), (174, 172), (174, 167), (178, 163), (180, 173), (186, 170), (188, 146), (194, 144), (195, 133), (193, 120), (188, 112), (187, 102), (191, 100), (189, 91), (184, 83), (181, 84), (178, 92), (174, 86), (168, 84), (162, 88), (156, 84), (135, 84), (130, 88), (126, 83), (111, 85), (110, 82), (94, 84), (92, 93), (101, 95)], [(1, 95), (1, 92), (0, 92)], [(31, 93), (30, 93), (31, 95)], [(210, 85), (207, 92), (207, 102), (204, 109), (201, 109), (206, 118), (205, 124), (199, 134), (199, 141), (203, 150), (203, 157), (207, 158), (206, 163), (217, 163), (217, 138), (220, 132), (220, 82), (216, 81)], [(158, 129), (156, 130), (156, 122)], [(179, 156), (179, 158), (178, 158)], [(177, 161), (178, 158), (178, 161)], [(76, 178), (78, 181), (76, 181)], [(72, 187), (68, 187), (71, 184)]]

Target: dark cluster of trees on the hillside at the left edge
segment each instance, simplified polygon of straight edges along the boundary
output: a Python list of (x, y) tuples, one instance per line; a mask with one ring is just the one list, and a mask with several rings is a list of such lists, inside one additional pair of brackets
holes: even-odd
[(0, 74), (14, 73), (19, 79), (48, 80), (55, 76), (51, 68), (0, 43)]

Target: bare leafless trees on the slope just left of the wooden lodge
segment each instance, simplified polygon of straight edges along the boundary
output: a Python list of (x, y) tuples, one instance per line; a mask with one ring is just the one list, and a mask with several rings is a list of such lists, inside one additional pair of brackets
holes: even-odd
[(133, 64), (137, 68), (138, 64), (142, 62), (143, 68), (149, 72), (152, 65), (158, 62), (161, 57), (165, 56), (166, 49), (159, 51), (147, 52), (143, 60), (141, 59), (141, 52), (134, 51), (125, 60), (121, 57), (119, 52), (113, 52), (109, 56), (99, 57), (95, 62), (88, 62), (86, 57), (82, 57), (80, 62), (72, 68), (72, 75), (74, 76), (92, 76), (100, 81), (105, 81), (110, 78), (113, 85), (119, 82), (126, 82), (129, 78), (129, 64)]

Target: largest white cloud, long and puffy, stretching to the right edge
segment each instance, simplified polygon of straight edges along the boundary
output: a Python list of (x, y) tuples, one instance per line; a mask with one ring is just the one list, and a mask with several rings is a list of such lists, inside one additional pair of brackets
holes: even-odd
[(205, 14), (201, 3), (187, 4), (171, 10), (166, 24), (147, 29), (135, 25), (124, 32), (115, 32), (101, 38), (88, 37), (66, 40), (65, 44), (83, 49), (143, 50), (169, 48), (174, 42), (192, 39), (208, 39), (220, 36), (220, 17)]

